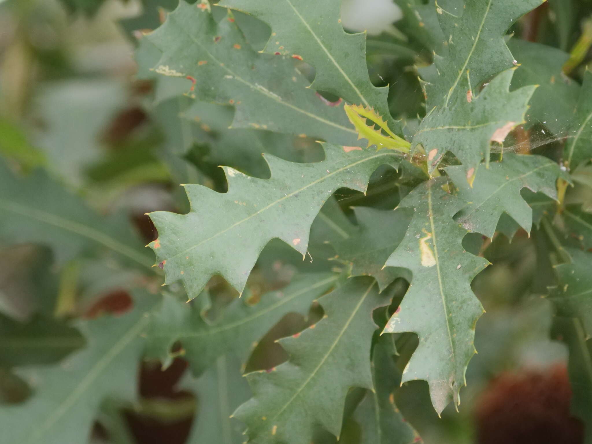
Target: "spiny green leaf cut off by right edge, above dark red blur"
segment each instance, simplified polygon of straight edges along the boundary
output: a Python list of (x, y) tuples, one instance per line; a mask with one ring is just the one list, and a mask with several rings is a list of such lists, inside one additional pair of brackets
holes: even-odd
[(592, 334), (592, 254), (567, 249), (571, 263), (556, 265), (559, 285), (549, 298), (555, 303), (559, 316), (580, 319), (586, 337)]

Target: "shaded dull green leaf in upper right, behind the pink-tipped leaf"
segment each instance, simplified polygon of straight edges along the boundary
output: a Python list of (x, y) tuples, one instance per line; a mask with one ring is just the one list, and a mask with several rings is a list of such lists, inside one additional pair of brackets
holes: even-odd
[(526, 127), (542, 123), (555, 136), (563, 136), (570, 129), (580, 93), (578, 83), (562, 70), (570, 54), (519, 38), (511, 38), (508, 46), (520, 63), (512, 78), (512, 88), (539, 85), (530, 99)]

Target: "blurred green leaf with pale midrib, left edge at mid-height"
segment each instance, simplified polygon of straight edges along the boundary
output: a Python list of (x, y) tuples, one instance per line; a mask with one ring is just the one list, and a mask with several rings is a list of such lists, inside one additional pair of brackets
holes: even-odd
[(0, 160), (0, 210), (5, 244), (50, 246), (58, 264), (85, 250), (107, 247), (125, 260), (150, 267), (150, 255), (123, 214), (99, 217), (42, 170), (20, 177)]

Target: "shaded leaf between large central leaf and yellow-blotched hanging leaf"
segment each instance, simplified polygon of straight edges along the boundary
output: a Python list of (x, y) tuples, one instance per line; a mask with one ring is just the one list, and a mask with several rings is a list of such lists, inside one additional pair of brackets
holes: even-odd
[(337, 260), (352, 264), (352, 276), (373, 276), (380, 291), (400, 276), (405, 269), (384, 268), (388, 256), (405, 236), (412, 212), (401, 208), (395, 211), (374, 208), (354, 208), (358, 233), (335, 244)]

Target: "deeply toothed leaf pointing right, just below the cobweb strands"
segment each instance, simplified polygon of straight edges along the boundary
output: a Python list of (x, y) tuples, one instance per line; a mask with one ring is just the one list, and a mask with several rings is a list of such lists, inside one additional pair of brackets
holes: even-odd
[(520, 194), (523, 188), (542, 192), (557, 200), (555, 181), (567, 178), (559, 165), (543, 156), (504, 154), (501, 162), (492, 162), (482, 169), (472, 187), (465, 180), (464, 169), (449, 166), (445, 169), (458, 188), (458, 196), (469, 202), (455, 220), (467, 230), (492, 237), (498, 220), (507, 213), (530, 233), (533, 210)]

